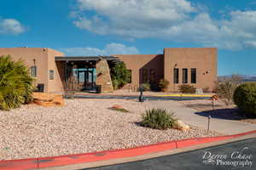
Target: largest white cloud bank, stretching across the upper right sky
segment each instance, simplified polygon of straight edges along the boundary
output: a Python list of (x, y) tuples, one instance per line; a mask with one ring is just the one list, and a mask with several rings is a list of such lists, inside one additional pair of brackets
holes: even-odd
[(73, 24), (100, 35), (154, 37), (233, 50), (256, 48), (253, 10), (231, 11), (226, 19), (214, 20), (203, 5), (189, 0), (77, 0), (77, 6)]

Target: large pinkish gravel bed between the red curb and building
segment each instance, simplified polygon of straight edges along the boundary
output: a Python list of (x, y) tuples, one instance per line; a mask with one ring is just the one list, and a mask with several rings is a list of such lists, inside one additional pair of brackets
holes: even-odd
[[(23, 105), (13, 111), (0, 111), (0, 160), (125, 149), (219, 135), (197, 127), (189, 132), (140, 127), (141, 113), (148, 108), (135, 100), (69, 99), (65, 104)], [(109, 110), (113, 105), (122, 105), (130, 112)]]

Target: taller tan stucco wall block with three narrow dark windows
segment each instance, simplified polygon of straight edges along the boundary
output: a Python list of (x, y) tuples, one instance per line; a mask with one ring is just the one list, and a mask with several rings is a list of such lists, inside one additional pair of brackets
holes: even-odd
[[(177, 91), (182, 84), (183, 68), (188, 68), (188, 84), (191, 84), (190, 69), (196, 68), (195, 88), (212, 91), (217, 81), (217, 48), (165, 48), (165, 78), (170, 81), (170, 90)], [(179, 69), (179, 84), (173, 83), (174, 66)]]

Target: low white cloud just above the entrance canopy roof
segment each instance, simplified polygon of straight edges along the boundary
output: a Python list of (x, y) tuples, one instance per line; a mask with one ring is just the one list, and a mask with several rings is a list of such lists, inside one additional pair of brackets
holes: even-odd
[(127, 47), (121, 43), (109, 43), (105, 48), (60, 48), (66, 55), (111, 55), (111, 54), (139, 54), (136, 47)]

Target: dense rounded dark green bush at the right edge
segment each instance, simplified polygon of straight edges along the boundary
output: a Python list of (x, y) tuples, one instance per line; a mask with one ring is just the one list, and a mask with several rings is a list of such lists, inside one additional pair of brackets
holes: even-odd
[(256, 82), (247, 82), (236, 88), (234, 102), (241, 111), (256, 115)]

